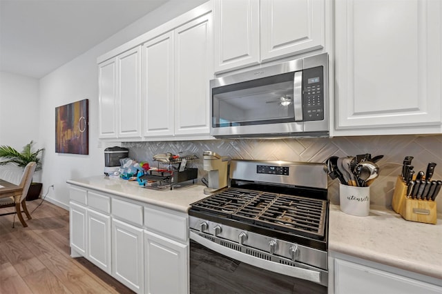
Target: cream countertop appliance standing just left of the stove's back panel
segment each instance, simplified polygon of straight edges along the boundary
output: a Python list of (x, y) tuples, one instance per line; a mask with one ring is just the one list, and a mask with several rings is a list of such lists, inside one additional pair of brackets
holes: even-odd
[[(213, 151), (204, 151), (203, 169), (209, 172), (204, 193), (211, 194), (216, 190), (227, 187), (227, 168), (229, 157), (222, 157)], [(204, 181), (203, 181), (204, 182)]]

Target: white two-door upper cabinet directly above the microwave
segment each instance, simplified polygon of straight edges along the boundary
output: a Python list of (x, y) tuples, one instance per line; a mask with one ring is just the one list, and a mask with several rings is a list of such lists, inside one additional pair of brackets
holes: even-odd
[(215, 0), (215, 72), (324, 47), (324, 0)]

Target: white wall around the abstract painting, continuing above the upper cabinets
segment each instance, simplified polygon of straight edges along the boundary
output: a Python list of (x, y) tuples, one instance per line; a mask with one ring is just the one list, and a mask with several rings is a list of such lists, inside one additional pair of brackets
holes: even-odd
[[(67, 208), (69, 195), (66, 180), (101, 175), (104, 168), (104, 148), (117, 145), (99, 146), (97, 139), (97, 57), (205, 1), (171, 0), (40, 80), (39, 142), (46, 148), (42, 182), (44, 193), (48, 186), (55, 185), (54, 191), (49, 190), (47, 196), (51, 202)], [(55, 153), (55, 108), (81, 99), (89, 99), (89, 155)]]

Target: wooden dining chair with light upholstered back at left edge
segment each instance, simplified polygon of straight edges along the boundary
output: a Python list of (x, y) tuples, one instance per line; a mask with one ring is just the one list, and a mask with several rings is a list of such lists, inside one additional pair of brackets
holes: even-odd
[(25, 170), (23, 171), (23, 175), (21, 176), (21, 182), (19, 184), (20, 188), (23, 188), (23, 192), (21, 193), (21, 195), (17, 195), (14, 197), (11, 196), (6, 198), (0, 198), (0, 208), (15, 206), (15, 211), (23, 226), (28, 226), (28, 224), (26, 224), (25, 220), (23, 219), (23, 216), (21, 215), (21, 208), (23, 208), (26, 217), (28, 217), (28, 219), (32, 219), (32, 217), (28, 212), (28, 208), (26, 208), (25, 199), (26, 195), (28, 195), (30, 183), (32, 182), (32, 175), (34, 175), (35, 166), (37, 166), (37, 163), (35, 161), (31, 161), (28, 165), (26, 165)]

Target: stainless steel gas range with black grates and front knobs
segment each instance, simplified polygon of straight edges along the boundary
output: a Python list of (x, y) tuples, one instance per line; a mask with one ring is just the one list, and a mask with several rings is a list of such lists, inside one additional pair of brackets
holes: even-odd
[(232, 160), (229, 177), (189, 210), (191, 293), (327, 293), (326, 166)]

